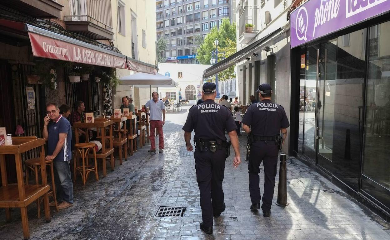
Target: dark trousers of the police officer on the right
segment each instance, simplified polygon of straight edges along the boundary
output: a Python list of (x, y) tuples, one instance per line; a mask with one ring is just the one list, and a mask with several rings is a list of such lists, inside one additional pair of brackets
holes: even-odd
[(249, 154), (249, 193), (252, 203), (260, 203), (260, 163), (264, 166), (264, 193), (261, 209), (271, 209), (275, 189), (276, 167), (278, 163), (278, 146), (275, 141), (255, 140), (250, 146)]

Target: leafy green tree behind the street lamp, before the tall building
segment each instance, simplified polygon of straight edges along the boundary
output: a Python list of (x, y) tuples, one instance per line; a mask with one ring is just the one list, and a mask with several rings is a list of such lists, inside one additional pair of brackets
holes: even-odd
[[(223, 57), (229, 57), (236, 53), (236, 23), (230, 24), (228, 18), (222, 19), (219, 29), (214, 27), (204, 38), (203, 43), (197, 49), (197, 59), (202, 64), (210, 64), (211, 53), (215, 51), (214, 40), (218, 40), (218, 61)], [(224, 54), (223, 54), (224, 53)], [(218, 74), (218, 79), (227, 80), (235, 77), (234, 66)]]

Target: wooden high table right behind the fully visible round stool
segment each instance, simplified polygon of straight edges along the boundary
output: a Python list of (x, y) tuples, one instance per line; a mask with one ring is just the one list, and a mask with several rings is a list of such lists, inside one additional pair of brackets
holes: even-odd
[[(96, 158), (103, 160), (103, 177), (107, 176), (107, 170), (106, 170), (106, 158), (108, 156), (111, 156), (110, 164), (111, 164), (111, 171), (114, 170), (114, 148), (113, 148), (113, 136), (112, 136), (112, 120), (108, 118), (95, 118), (94, 123), (82, 123), (82, 122), (76, 122), (73, 123), (74, 132), (76, 135), (76, 144), (79, 143), (78, 139), (78, 128), (96, 128), (97, 135), (99, 138), (99, 130), (97, 128), (101, 129), (101, 153), (96, 153)], [(110, 128), (110, 133), (108, 136), (106, 136), (106, 127)], [(106, 148), (106, 139), (109, 140), (110, 146)], [(86, 142), (89, 142), (88, 137), (85, 139)], [(89, 157), (94, 157), (92, 155), (88, 155)]]

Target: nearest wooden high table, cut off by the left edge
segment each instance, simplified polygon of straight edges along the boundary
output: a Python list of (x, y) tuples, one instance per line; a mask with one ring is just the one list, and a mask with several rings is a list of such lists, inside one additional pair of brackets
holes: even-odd
[[(12, 137), (12, 145), (0, 146), (0, 168), (2, 187), (0, 187), (0, 207), (5, 208), (5, 217), (7, 222), (11, 222), (11, 212), (9, 208), (20, 208), (23, 236), (24, 239), (30, 238), (30, 230), (28, 229), (27, 206), (43, 196), (45, 220), (50, 222), (49, 196), (48, 191), (50, 186), (47, 183), (45, 149), (46, 140), (37, 137)], [(41, 147), (41, 177), (42, 185), (25, 185), (23, 181), (23, 163), (21, 154), (31, 149)], [(8, 184), (7, 171), (5, 168), (5, 154), (13, 154), (16, 163), (16, 175), (18, 185)]]

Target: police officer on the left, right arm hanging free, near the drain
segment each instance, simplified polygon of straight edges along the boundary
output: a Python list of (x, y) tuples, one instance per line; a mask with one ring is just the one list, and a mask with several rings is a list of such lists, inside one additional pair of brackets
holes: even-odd
[(216, 86), (212, 82), (203, 84), (203, 103), (191, 107), (183, 126), (187, 151), (192, 151), (191, 132), (195, 130), (195, 169), (200, 191), (202, 220), (200, 229), (213, 233), (213, 216), (219, 217), (225, 210), (222, 181), (225, 173), (225, 161), (230, 150), (225, 130), (229, 133), (235, 157), (233, 166), (241, 163), (236, 123), (230, 110), (214, 102)]

